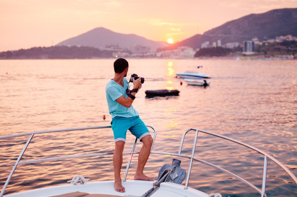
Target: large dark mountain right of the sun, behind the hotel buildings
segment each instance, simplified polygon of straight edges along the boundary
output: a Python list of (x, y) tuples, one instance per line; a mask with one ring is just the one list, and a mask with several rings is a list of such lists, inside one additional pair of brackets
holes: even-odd
[(225, 44), (251, 40), (255, 37), (263, 40), (287, 34), (297, 36), (297, 8), (274, 9), (262, 14), (249, 14), (160, 50), (176, 49), (178, 46), (197, 49), (206, 41), (211, 44), (221, 40), (222, 44)]

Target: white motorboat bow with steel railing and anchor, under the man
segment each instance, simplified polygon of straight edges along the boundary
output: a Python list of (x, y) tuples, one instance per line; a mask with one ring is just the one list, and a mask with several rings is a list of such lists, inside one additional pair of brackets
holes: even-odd
[[(56, 197), (116, 197), (116, 196), (127, 196), (127, 197), (164, 197), (164, 196), (172, 196), (172, 197), (210, 197), (210, 196), (215, 196), (214, 193), (219, 192), (219, 191), (214, 191), (212, 194), (206, 194), (200, 190), (196, 190), (194, 188), (189, 188), (188, 183), (189, 183), (189, 178), (190, 178), (190, 173), (192, 169), (192, 164), (193, 161), (197, 161), (203, 164), (206, 164), (210, 167), (213, 167), (215, 169), (218, 169), (222, 172), (225, 172), (226, 174), (240, 180), (241, 182), (245, 183), (255, 191), (261, 194), (261, 196), (266, 196), (265, 189), (266, 189), (266, 176), (267, 176), (267, 164), (268, 164), (268, 159), (269, 164), (274, 162), (277, 164), (277, 166), (281, 167), (287, 175), (289, 175), (295, 183), (297, 183), (297, 178), (295, 175), (293, 175), (292, 172), (290, 172), (287, 167), (285, 167), (282, 163), (280, 163), (277, 159), (274, 157), (270, 156), (269, 154), (261, 151), (258, 148), (255, 148), (253, 146), (250, 146), (246, 143), (234, 140), (232, 138), (225, 137), (223, 135), (211, 133), (208, 131), (203, 131), (203, 130), (198, 130), (194, 128), (190, 128), (186, 130), (182, 136), (181, 139), (181, 144), (179, 146), (178, 153), (168, 153), (168, 152), (156, 152), (152, 151), (152, 148), (154, 146), (154, 141), (156, 138), (156, 131), (154, 127), (147, 125), (147, 127), (150, 127), (154, 130), (154, 137), (153, 137), (153, 144), (151, 147), (151, 154), (159, 154), (159, 155), (171, 155), (175, 157), (182, 157), (182, 158), (187, 158), (190, 159), (189, 163), (189, 168), (186, 173), (185, 169), (181, 169), (179, 167), (180, 161), (177, 159), (173, 159), (173, 162), (171, 165), (165, 164), (163, 167), (160, 169), (158, 180), (157, 181), (143, 181), (143, 180), (126, 180), (127, 173), (129, 170), (130, 162), (132, 160), (133, 154), (139, 154), (139, 152), (134, 151), (136, 143), (138, 139), (135, 139), (134, 145), (132, 147), (131, 152), (123, 152), (123, 154), (129, 154), (129, 161), (127, 163), (126, 167), (126, 172), (123, 178), (123, 186), (125, 187), (126, 192), (124, 193), (119, 193), (116, 192), (113, 188), (114, 181), (97, 181), (97, 182), (89, 182), (88, 179), (85, 179), (81, 175), (73, 177), (72, 180), (68, 181), (71, 182), (71, 184), (66, 184), (65, 185), (59, 185), (59, 186), (53, 186), (53, 187), (47, 187), (47, 188), (40, 188), (40, 189), (34, 189), (34, 190), (28, 190), (24, 192), (19, 192), (19, 193), (13, 193), (13, 194), (8, 194), (5, 195), (5, 197), (24, 197), (24, 196), (30, 196), (30, 197), (51, 197), (51, 196), (56, 196)], [(113, 153), (98, 153), (98, 154), (83, 154), (83, 155), (71, 155), (71, 156), (63, 156), (63, 157), (53, 157), (53, 158), (43, 158), (43, 159), (36, 159), (36, 160), (27, 160), (27, 161), (21, 161), (20, 159), (22, 158), (24, 152), (26, 151), (26, 148), (28, 147), (31, 139), (33, 136), (41, 134), (41, 133), (52, 133), (52, 132), (64, 132), (64, 131), (77, 131), (77, 130), (88, 130), (88, 129), (101, 129), (101, 128), (111, 128), (111, 126), (103, 126), (103, 127), (83, 127), (83, 128), (72, 128), (72, 129), (60, 129), (60, 130), (45, 130), (45, 131), (38, 131), (38, 132), (31, 132), (31, 133), (22, 133), (22, 134), (16, 134), (16, 135), (8, 135), (8, 136), (3, 136), (0, 137), (1, 139), (7, 139), (7, 138), (15, 138), (15, 137), (20, 137), (20, 136), (29, 136), (29, 139), (27, 140), (23, 150), (21, 151), (18, 159), (16, 162), (13, 164), (13, 168), (10, 172), (10, 175), (8, 176), (2, 190), (0, 193), (0, 197), (4, 195), (4, 191), (10, 182), (10, 179), (12, 177), (12, 174), (14, 173), (16, 167), (21, 164), (30, 164), (30, 163), (37, 163), (37, 162), (44, 162), (44, 161), (54, 161), (54, 160), (61, 160), (61, 159), (70, 159), (70, 158), (82, 158), (82, 157), (91, 157), (91, 156), (104, 156), (104, 155), (113, 155)], [(193, 148), (192, 148), (192, 154), (189, 155), (183, 155), (181, 154), (181, 149), (184, 143), (184, 138), (187, 133), (189, 132), (195, 132), (195, 139), (193, 143)], [(263, 155), (264, 157), (264, 165), (263, 165), (263, 179), (262, 179), (262, 188), (258, 188), (257, 186), (253, 185), (252, 183), (249, 183), (247, 180), (239, 177), (238, 175), (233, 174), (232, 172), (229, 172), (226, 169), (223, 169), (221, 167), (218, 167), (214, 164), (211, 164), (209, 162), (203, 161), (202, 159), (198, 159), (194, 157), (195, 154), (195, 148), (196, 148), (196, 142), (198, 139), (198, 133), (205, 133), (208, 135), (212, 135), (215, 137), (219, 137), (222, 139), (225, 139), (230, 142), (234, 142), (237, 144), (240, 144), (242, 146), (246, 146), (247, 148), (252, 149), (253, 151), (256, 151), (260, 154)], [(275, 165), (271, 165), (270, 167), (273, 167)], [(112, 168), (112, 166), (111, 166)], [(255, 175), (258, 176), (258, 175)], [(185, 184), (181, 185), (183, 183), (184, 179)], [(80, 183), (80, 184), (77, 184)], [(227, 183), (228, 184), (228, 183)], [(57, 196), (58, 195), (58, 196)], [(219, 194), (217, 194), (219, 196)]]

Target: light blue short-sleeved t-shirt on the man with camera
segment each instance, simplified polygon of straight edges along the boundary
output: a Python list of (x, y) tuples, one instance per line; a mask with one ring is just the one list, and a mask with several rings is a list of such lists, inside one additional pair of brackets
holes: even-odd
[[(116, 116), (133, 117), (133, 116), (139, 115), (132, 105), (128, 108), (116, 102), (116, 99), (119, 99), (122, 95), (124, 95), (126, 99), (128, 97), (128, 95), (126, 94), (126, 89), (128, 87), (128, 81), (126, 77), (124, 77), (123, 83), (124, 83), (124, 87), (116, 83), (114, 80), (110, 80), (106, 84), (106, 88), (105, 88), (106, 100), (108, 104), (109, 113), (111, 114), (112, 118)], [(129, 85), (129, 88), (130, 88), (130, 85)]]

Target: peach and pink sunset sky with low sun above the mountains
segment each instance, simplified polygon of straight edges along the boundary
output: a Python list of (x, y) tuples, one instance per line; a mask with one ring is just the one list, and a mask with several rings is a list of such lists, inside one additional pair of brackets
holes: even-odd
[(0, 0), (0, 51), (51, 46), (97, 27), (182, 41), (230, 20), (297, 0)]

